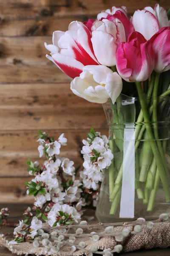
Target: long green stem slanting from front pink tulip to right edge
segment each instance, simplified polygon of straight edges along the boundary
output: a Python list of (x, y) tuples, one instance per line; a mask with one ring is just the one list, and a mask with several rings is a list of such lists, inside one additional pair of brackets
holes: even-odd
[(166, 197), (166, 201), (169, 202), (170, 201), (170, 190), (169, 190), (169, 184), (167, 181), (167, 175), (164, 171), (164, 169), (162, 168), (162, 159), (159, 155), (159, 151), (155, 142), (155, 138), (153, 136), (152, 133), (152, 128), (150, 126), (150, 120), (149, 120), (149, 115), (147, 113), (147, 105), (144, 101), (143, 98), (143, 92), (142, 92), (142, 87), (141, 87), (141, 83), (140, 82), (136, 82), (136, 87), (138, 90), (138, 95), (139, 95), (139, 100), (141, 103), (141, 108), (142, 108), (142, 112), (143, 112), (143, 116), (144, 116), (144, 122), (145, 122), (145, 126), (146, 126), (146, 131), (147, 131), (147, 136), (148, 139), (150, 140), (150, 146), (152, 148), (153, 151), (153, 155), (155, 157), (156, 160), (156, 165), (159, 171), (159, 175), (161, 177), (161, 182), (162, 182), (162, 186), (164, 188), (164, 193), (165, 193), (165, 197)]

